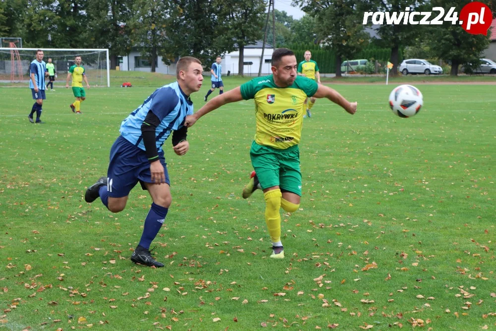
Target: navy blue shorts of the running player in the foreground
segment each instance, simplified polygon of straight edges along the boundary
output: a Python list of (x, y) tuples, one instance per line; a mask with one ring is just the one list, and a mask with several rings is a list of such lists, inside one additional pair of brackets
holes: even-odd
[[(164, 166), (165, 182), (171, 185), (164, 151), (159, 152), (159, 159)], [(144, 183), (154, 183), (151, 180), (150, 162), (145, 151), (134, 146), (122, 135), (116, 139), (110, 149), (107, 177), (109, 197), (112, 198), (128, 196), (138, 182), (143, 190), (146, 190)]]

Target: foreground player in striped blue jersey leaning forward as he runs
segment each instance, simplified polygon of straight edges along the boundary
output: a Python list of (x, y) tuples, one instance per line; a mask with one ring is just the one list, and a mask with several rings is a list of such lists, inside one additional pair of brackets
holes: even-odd
[(110, 211), (119, 212), (124, 210), (127, 196), (138, 182), (143, 190), (148, 190), (153, 203), (131, 261), (155, 267), (164, 265), (151, 256), (150, 244), (172, 202), (162, 145), (173, 132), (174, 152), (184, 155), (188, 151), (184, 121), (187, 115), (193, 114), (189, 96), (200, 89), (203, 81), (203, 67), (196, 58), (181, 58), (176, 72), (176, 82), (155, 90), (122, 122), (121, 135), (110, 150), (107, 177), (101, 177), (90, 186), (84, 196), (86, 202), (100, 197)]

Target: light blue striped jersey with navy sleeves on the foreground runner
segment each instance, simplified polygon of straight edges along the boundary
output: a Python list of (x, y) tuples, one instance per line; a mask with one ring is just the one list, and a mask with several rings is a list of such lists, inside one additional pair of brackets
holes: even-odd
[(141, 135), (141, 125), (150, 110), (160, 120), (155, 130), (156, 146), (160, 152), (171, 132), (181, 129), (186, 116), (193, 114), (193, 103), (181, 90), (177, 81), (156, 89), (146, 98), (143, 104), (123, 121), (120, 130), (126, 140), (142, 150), (145, 150), (145, 145)]

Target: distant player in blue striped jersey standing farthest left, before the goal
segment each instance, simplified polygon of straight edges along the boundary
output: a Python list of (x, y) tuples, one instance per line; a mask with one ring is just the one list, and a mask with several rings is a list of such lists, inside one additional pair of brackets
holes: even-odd
[(29, 122), (35, 123), (33, 120), (33, 114), (36, 113), (36, 123), (45, 123), (40, 119), (40, 117), (43, 107), (43, 100), (46, 99), (45, 76), (48, 76), (48, 70), (45, 61), (43, 61), (42, 50), (36, 51), (36, 59), (31, 62), (31, 65), (29, 66), (29, 72), (31, 73), (29, 88), (31, 89), (33, 100), (36, 101), (31, 108), (31, 113), (28, 115), (28, 119)]

